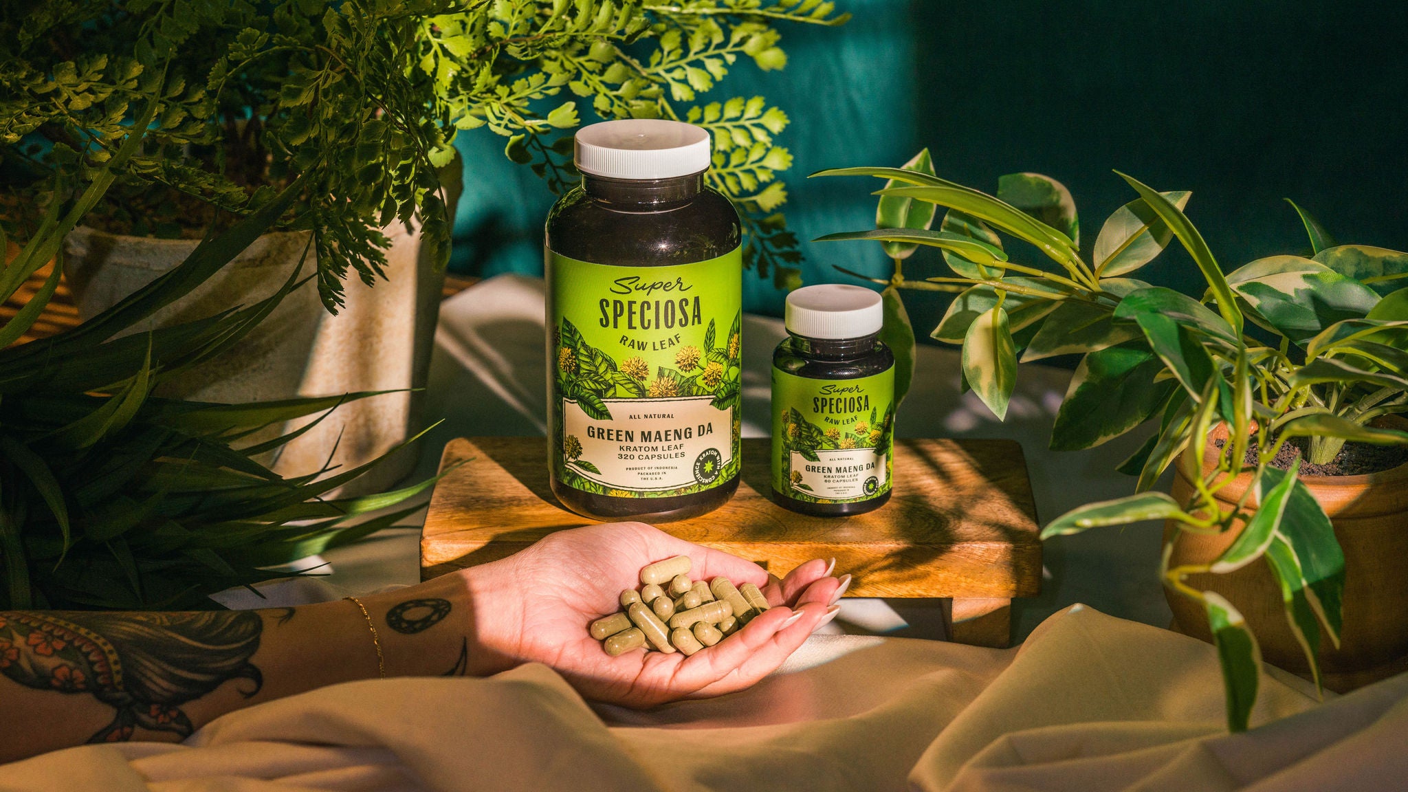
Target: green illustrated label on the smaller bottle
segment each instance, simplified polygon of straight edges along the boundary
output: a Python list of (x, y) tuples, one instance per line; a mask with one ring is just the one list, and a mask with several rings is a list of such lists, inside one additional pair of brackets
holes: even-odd
[(773, 489), (794, 500), (850, 503), (890, 490), (894, 368), (859, 379), (773, 369)]

